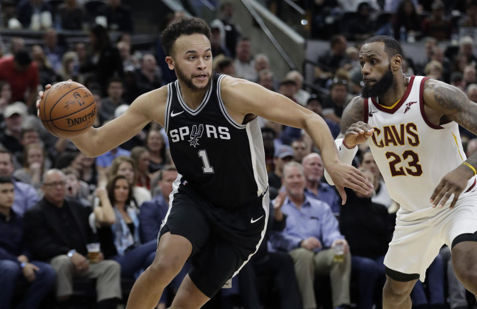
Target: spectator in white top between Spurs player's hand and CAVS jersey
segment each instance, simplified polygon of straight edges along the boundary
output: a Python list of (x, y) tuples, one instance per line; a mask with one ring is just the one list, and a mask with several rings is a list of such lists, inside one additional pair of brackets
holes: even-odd
[(388, 188), (386, 187), (386, 183), (381, 176), (381, 172), (378, 169), (376, 161), (374, 161), (371, 150), (368, 149), (363, 153), (359, 167), (370, 171), (374, 175), (374, 193), (371, 197), (371, 201), (373, 203), (385, 205), (386, 208), (389, 209), (393, 205), (394, 201), (391, 199), (391, 196), (389, 196)]

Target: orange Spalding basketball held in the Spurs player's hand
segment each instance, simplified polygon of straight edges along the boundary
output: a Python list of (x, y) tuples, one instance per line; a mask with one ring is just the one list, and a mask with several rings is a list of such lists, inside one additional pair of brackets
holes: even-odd
[(96, 102), (80, 83), (62, 81), (45, 91), (39, 112), (42, 124), (51, 134), (75, 138), (93, 124)]

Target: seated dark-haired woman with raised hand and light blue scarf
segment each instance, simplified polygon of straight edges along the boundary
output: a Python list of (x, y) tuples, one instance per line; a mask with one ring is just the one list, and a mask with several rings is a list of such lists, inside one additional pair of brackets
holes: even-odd
[(121, 265), (121, 275), (134, 278), (135, 274), (153, 263), (157, 239), (141, 244), (139, 208), (132, 199), (132, 188), (126, 177), (116, 175), (106, 189), (98, 188), (100, 205), (94, 207), (90, 221), (97, 230), (105, 258)]

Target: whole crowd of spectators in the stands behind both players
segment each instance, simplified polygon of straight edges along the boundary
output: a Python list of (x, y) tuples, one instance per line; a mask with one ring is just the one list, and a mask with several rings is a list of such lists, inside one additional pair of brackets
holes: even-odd
[[(460, 10), (462, 22), (457, 24), (470, 25), (477, 11), (473, 0), (312, 2), (321, 7), (314, 25), (320, 18), (329, 21), (343, 12), (358, 12), (346, 23), (350, 31), (332, 36), (329, 50), (317, 59), (311, 82), (326, 91), (307, 91), (297, 70), (275, 76), (266, 54), (252, 55), (259, 42), (240, 32), (234, 7), (227, 2), (210, 23), (213, 69), (288, 97), (323, 117), (337, 137), (343, 109), (362, 86), (359, 44), (348, 40), (388, 31), (382, 33), (408, 42), (426, 37), (426, 62), (406, 58), (406, 74), (452, 83), (477, 101), (473, 38), (462, 36), (458, 47), (450, 44), (445, 49), (441, 42), (456, 33), (455, 20), (447, 22), (444, 12)], [(43, 44), (33, 46), (14, 38), (0, 55), (0, 307), (71, 308), (78, 302), (74, 292), (82, 277), (95, 284), (97, 308), (115, 308), (127, 298), (121, 280), (133, 282), (155, 256), (177, 177), (165, 131), (148, 124), (124, 144), (88, 158), (71, 141), (44, 129), (34, 102), (47, 83), (79, 81), (95, 97), (97, 127), (122, 115), (137, 96), (172, 82), (175, 75), (163, 61), (160, 40), (156, 49), (134, 50), (131, 11), (120, 0), (94, 8), (79, 0), (54, 3), (58, 1), (1, 3), (3, 27), (43, 29), (44, 36)], [(394, 15), (378, 29), (372, 16), (383, 5)], [(423, 8), (432, 9), (432, 14), (423, 18)], [(182, 16), (178, 11), (167, 18), (171, 22)], [(89, 39), (69, 46), (59, 38), (60, 29), (85, 31)], [(110, 31), (124, 34), (114, 42)], [(366, 196), (347, 190), (347, 205), (342, 207), (334, 187), (322, 181), (323, 162), (311, 138), (301, 129), (265, 119), (260, 124), (272, 199), (266, 241), (234, 278), (232, 289), (223, 289), (206, 307), (314, 309), (353, 303), (362, 309), (380, 308), (383, 260), (398, 205), (367, 145), (360, 147), (353, 164), (372, 180), (375, 190)], [(467, 155), (476, 150), (474, 134), (462, 130), (462, 140)], [(100, 247), (94, 257), (88, 254), (91, 244)], [(337, 248), (341, 259), (335, 258)], [(158, 308), (170, 304), (188, 268), (186, 263), (167, 287)], [(467, 308), (466, 290), (453, 274), (448, 247), (442, 248), (426, 277), (411, 294), (415, 306), (437, 309), (449, 303), (452, 309)]]

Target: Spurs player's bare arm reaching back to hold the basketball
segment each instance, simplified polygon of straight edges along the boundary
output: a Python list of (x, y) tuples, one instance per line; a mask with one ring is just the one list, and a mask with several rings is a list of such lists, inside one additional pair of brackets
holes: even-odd
[[(43, 92), (39, 95), (41, 100)], [(162, 125), (166, 98), (166, 87), (145, 93), (134, 100), (122, 116), (98, 128), (91, 126), (72, 141), (85, 156), (97, 157), (131, 139), (153, 120)]]

